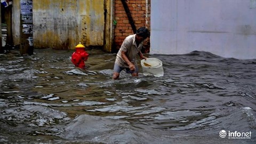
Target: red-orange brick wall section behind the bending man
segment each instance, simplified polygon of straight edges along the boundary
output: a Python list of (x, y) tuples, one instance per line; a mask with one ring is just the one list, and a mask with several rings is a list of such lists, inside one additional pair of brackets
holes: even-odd
[[(150, 0), (126, 0), (135, 27), (147, 27), (150, 30)], [(126, 36), (133, 34), (129, 19), (121, 0), (115, 1), (115, 32), (113, 52), (117, 52)], [(149, 52), (149, 38), (145, 40), (142, 52)]]

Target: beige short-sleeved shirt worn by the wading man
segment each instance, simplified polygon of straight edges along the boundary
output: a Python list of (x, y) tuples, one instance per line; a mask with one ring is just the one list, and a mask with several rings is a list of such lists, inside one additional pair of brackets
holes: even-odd
[(122, 43), (122, 45), (117, 53), (117, 56), (116, 56), (115, 63), (117, 63), (117, 65), (119, 65), (121, 67), (126, 67), (126, 68), (129, 67), (121, 56), (122, 51), (126, 52), (127, 58), (131, 62), (133, 62), (134, 65), (137, 65), (136, 57), (142, 48), (142, 42), (139, 44), (139, 46), (137, 46), (137, 44), (135, 42), (135, 35), (136, 34), (127, 36), (124, 39), (124, 42)]

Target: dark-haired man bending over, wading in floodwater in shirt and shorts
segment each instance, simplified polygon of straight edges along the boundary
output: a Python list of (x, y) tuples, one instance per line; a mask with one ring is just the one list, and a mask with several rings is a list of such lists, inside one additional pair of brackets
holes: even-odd
[(132, 76), (139, 76), (139, 68), (136, 62), (137, 54), (140, 55), (140, 59), (147, 59), (141, 53), (141, 48), (144, 39), (149, 36), (149, 31), (145, 27), (141, 27), (136, 31), (136, 34), (127, 36), (124, 39), (117, 55), (114, 65), (113, 79), (118, 79), (120, 72), (125, 69), (126, 73), (132, 74)]

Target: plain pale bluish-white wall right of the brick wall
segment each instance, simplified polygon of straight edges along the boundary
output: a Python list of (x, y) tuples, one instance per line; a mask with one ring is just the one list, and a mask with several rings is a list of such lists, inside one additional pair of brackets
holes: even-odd
[(151, 0), (150, 53), (256, 59), (256, 0)]

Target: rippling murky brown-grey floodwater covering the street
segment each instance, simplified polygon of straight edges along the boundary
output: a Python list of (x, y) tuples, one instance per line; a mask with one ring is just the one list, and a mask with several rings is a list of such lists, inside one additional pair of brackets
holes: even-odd
[(0, 55), (0, 143), (256, 143), (255, 59), (145, 54), (163, 77), (113, 81), (115, 54), (89, 50), (81, 70), (73, 52)]

